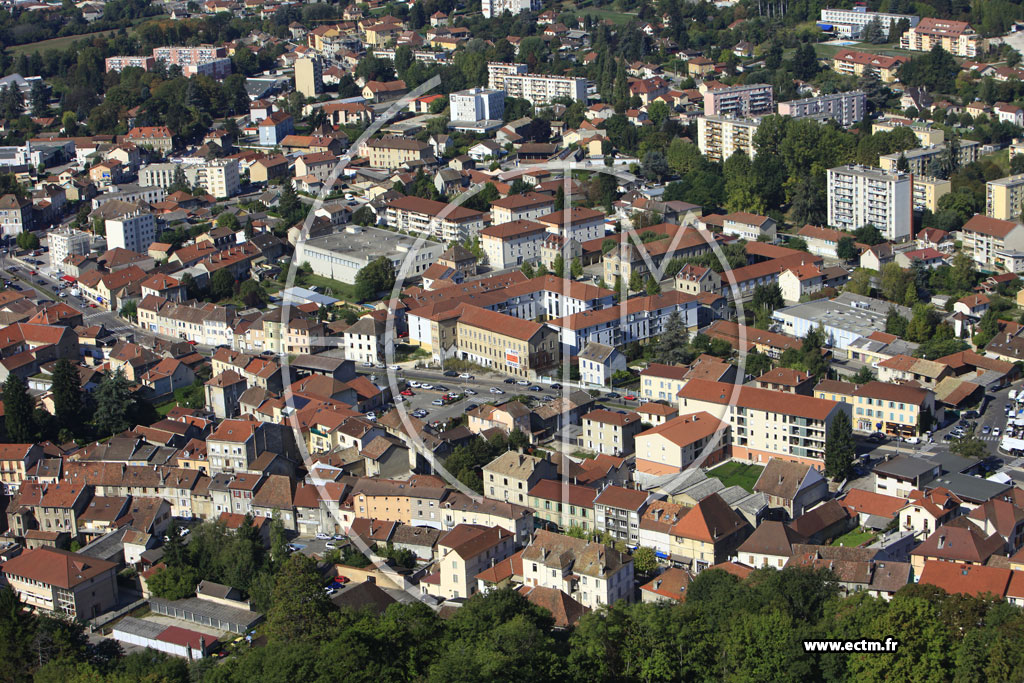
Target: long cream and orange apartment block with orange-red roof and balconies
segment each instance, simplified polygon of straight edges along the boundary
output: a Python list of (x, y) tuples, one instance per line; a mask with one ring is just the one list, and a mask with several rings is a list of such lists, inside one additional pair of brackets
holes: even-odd
[(847, 403), (726, 382), (693, 379), (679, 391), (679, 414), (709, 413), (728, 423), (734, 460), (771, 458), (824, 467), (825, 434)]

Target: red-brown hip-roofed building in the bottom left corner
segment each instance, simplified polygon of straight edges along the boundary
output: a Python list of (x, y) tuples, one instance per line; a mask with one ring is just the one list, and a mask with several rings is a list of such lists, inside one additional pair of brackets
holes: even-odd
[(118, 565), (53, 548), (3, 563), (4, 583), (31, 608), (90, 620), (118, 606)]

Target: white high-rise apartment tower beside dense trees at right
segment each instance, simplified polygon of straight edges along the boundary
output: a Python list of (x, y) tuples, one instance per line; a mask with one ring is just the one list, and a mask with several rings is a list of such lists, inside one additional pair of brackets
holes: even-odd
[(910, 239), (911, 176), (848, 164), (827, 172), (828, 224), (853, 231), (873, 225), (890, 242)]

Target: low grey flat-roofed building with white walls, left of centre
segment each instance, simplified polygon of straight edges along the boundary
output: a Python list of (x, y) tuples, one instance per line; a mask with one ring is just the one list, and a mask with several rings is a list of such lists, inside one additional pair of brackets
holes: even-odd
[(371, 262), (384, 256), (401, 272), (402, 263), (409, 262), (406, 274), (417, 278), (429, 268), (443, 253), (444, 245), (424, 240), (416, 246), (417, 238), (398, 234), (376, 227), (349, 225), (341, 232), (299, 242), (295, 247), (295, 262), (308, 263), (313, 273), (347, 285), (355, 284), (355, 275)]

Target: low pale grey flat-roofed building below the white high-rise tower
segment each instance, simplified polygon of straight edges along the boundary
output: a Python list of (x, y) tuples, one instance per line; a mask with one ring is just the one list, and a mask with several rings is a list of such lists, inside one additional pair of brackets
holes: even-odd
[[(772, 318), (779, 323), (782, 333), (803, 339), (812, 328), (821, 326), (834, 353), (843, 354), (851, 343), (886, 329), (886, 316), (893, 304), (844, 292), (835, 299), (819, 299), (799, 303), (776, 310)], [(895, 306), (907, 319), (912, 311)]]

